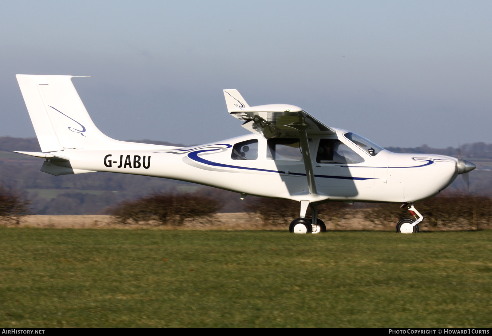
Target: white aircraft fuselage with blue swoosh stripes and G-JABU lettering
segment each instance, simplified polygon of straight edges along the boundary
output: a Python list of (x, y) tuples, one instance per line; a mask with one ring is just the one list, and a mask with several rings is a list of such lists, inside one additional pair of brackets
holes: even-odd
[[(267, 140), (250, 134), (193, 147), (64, 149), (53, 154), (68, 157), (74, 170), (155, 176), (246, 195), (311, 202), (414, 202), (435, 196), (458, 175), (456, 158), (384, 149), (371, 153), (349, 140), (348, 131), (334, 130), (334, 135), (313, 136), (308, 142), (316, 195), (309, 194), (295, 138)], [(334, 141), (335, 156), (326, 149)]]

